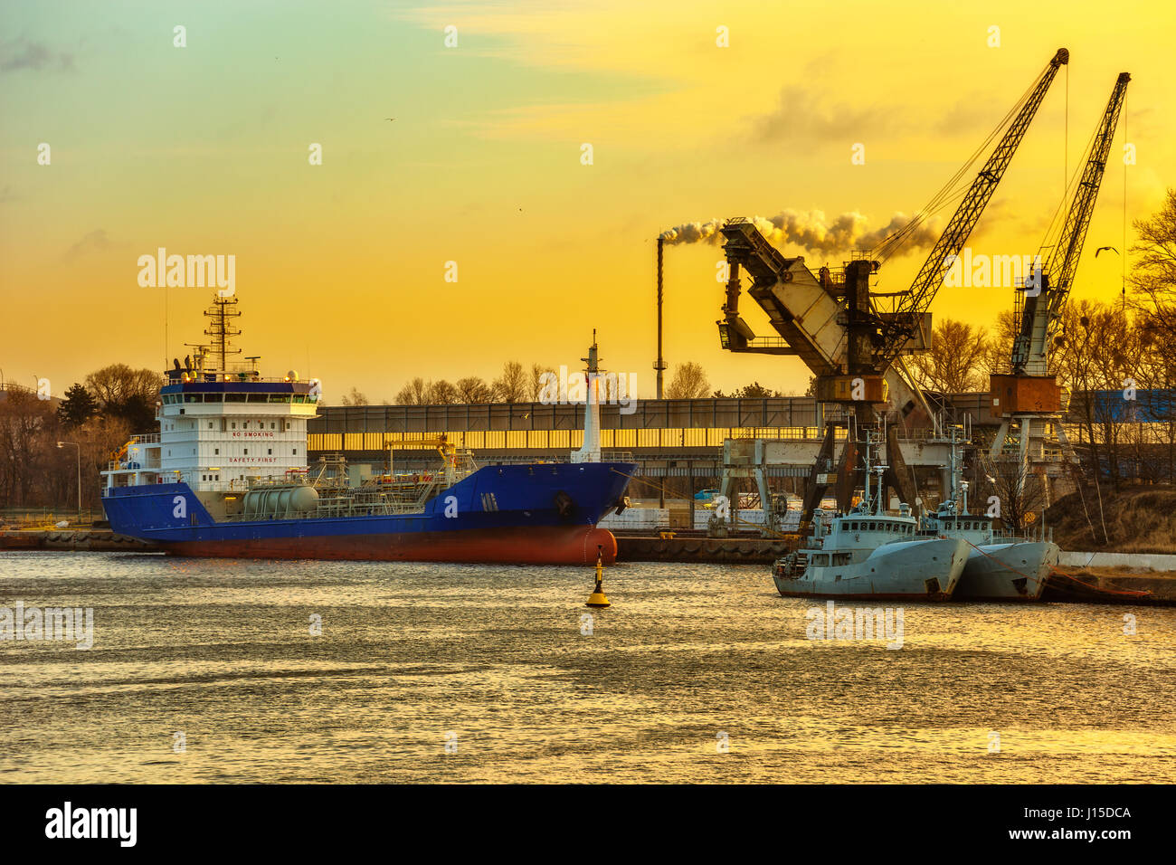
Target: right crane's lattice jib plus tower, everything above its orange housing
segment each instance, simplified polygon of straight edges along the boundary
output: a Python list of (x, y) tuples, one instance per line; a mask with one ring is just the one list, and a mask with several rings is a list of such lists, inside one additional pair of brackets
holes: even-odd
[[(1050, 341), (1062, 320), (1062, 308), (1074, 284), (1074, 274), (1082, 257), (1082, 246), (1090, 227), (1098, 188), (1115, 138), (1115, 127), (1127, 98), (1127, 84), (1131, 76), (1121, 72), (1107, 101), (1098, 129), (1090, 142), (1089, 155), (1082, 168), (1082, 179), (1074, 191), (1074, 199), (1065, 214), (1057, 242), (1053, 245), (1049, 260), (1042, 273), (1034, 274), (1022, 292), (1023, 306), (1018, 311), (1020, 330), (1013, 341), (1013, 372), (1017, 375), (1044, 375), (1048, 372)], [(1042, 247), (1044, 251), (1044, 247)], [(1038, 257), (1040, 260), (1040, 257)]]

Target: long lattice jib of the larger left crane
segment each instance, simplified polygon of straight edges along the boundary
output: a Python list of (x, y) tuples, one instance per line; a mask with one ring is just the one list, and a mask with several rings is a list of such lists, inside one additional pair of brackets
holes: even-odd
[(1037, 82), (1029, 95), (1024, 99), (1021, 111), (1014, 118), (1013, 122), (1009, 124), (1004, 137), (996, 145), (984, 167), (980, 169), (971, 187), (951, 217), (951, 221), (948, 222), (948, 227), (943, 229), (943, 234), (940, 235), (935, 248), (931, 249), (931, 254), (927, 257), (927, 261), (923, 262), (918, 275), (915, 277), (910, 291), (897, 304), (895, 308), (897, 314), (891, 319), (891, 324), (883, 330), (882, 341), (876, 353), (877, 359), (882, 364), (893, 361), (902, 346), (914, 334), (920, 318), (927, 312), (927, 308), (931, 305), (931, 300), (935, 298), (935, 293), (943, 284), (951, 262), (960, 254), (960, 251), (963, 249), (963, 245), (968, 240), (968, 235), (971, 234), (971, 229), (980, 219), (980, 214), (984, 212), (989, 199), (996, 192), (996, 186), (1001, 182), (1001, 178), (1004, 177), (1004, 169), (1009, 167), (1013, 154), (1016, 153), (1017, 146), (1021, 144), (1021, 139), (1024, 138), (1030, 121), (1037, 113), (1037, 108), (1041, 107), (1049, 86), (1054, 82), (1054, 76), (1057, 74), (1058, 68), (1068, 64), (1069, 60), (1070, 53), (1065, 48), (1058, 48), (1057, 53), (1049, 61), (1049, 65), (1037, 78)]

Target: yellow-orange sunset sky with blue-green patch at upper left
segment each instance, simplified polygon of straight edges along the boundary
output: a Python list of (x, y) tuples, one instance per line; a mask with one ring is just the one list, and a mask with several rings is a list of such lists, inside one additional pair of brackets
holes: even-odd
[[(1067, 114), (1073, 172), (1120, 72), (1132, 81), (1075, 297), (1118, 295), (1122, 260), (1094, 251), (1123, 247), (1124, 129), (1138, 159), (1128, 219), (1176, 186), (1170, 0), (8, 0), (0, 21), (0, 368), (46, 377), (54, 395), (199, 341), (208, 290), (166, 290), (165, 345), (165, 290), (136, 281), (158, 247), (234, 254), (240, 347), (268, 373), (321, 378), (328, 401), (353, 385), (390, 400), (414, 375), (490, 378), (514, 359), (574, 367), (594, 327), (604, 365), (653, 395), (660, 232), (789, 209), (857, 212), (869, 231), (911, 214), (1058, 47), (1070, 65), (973, 251), (1037, 249)], [(803, 392), (799, 360), (719, 347), (721, 249), (666, 253), (671, 368)], [(880, 291), (909, 285), (922, 257), (888, 261)], [(1007, 288), (944, 288), (933, 312), (988, 326), (1011, 304)]]

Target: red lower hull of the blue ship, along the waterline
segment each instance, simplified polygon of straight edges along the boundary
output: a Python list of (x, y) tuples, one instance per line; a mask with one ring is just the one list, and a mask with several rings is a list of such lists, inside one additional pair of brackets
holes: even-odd
[(595, 565), (600, 552), (606, 565), (616, 561), (616, 538), (607, 528), (594, 526), (172, 541), (160, 546), (173, 555), (227, 559)]

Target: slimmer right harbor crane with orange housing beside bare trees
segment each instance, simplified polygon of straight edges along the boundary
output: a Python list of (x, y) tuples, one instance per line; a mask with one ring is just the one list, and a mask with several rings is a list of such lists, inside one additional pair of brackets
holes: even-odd
[[(994, 374), (989, 379), (993, 414), (1001, 418), (991, 457), (996, 459), (1002, 454), (1010, 432), (1014, 432), (1020, 441), (1022, 466), (1017, 474), (1018, 494), (1024, 486), (1030, 440), (1035, 437), (1044, 440), (1048, 426), (1056, 431), (1060, 443), (1065, 445), (1065, 433), (1061, 425), (1062, 388), (1057, 385), (1057, 377), (1049, 374), (1049, 350), (1058, 339), (1062, 311), (1074, 287), (1078, 259), (1082, 257), (1082, 246), (1090, 227), (1130, 80), (1131, 76), (1125, 72), (1120, 73), (1115, 80), (1102, 119), (1090, 139), (1081, 175), (1076, 172), (1078, 182), (1064, 221), (1061, 222), (1056, 239), (1049, 244), (1043, 242), (1037, 254), (1036, 260), (1044, 260), (1045, 264), (1037, 267), (1025, 280), (1025, 285), (1017, 288), (1017, 333), (1014, 335), (1009, 359), (1011, 372)], [(1047, 231), (1047, 241), (1051, 235), (1053, 231)]]

